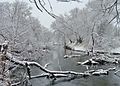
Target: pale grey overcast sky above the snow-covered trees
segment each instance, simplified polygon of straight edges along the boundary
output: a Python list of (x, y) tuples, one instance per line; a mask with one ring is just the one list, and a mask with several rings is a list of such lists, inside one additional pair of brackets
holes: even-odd
[[(1, 2), (13, 2), (15, 0), (0, 0)], [(54, 21), (54, 19), (49, 16), (46, 12), (41, 13), (34, 5), (34, 3), (30, 3), (29, 0), (20, 0), (25, 1), (29, 3), (29, 5), (33, 8), (32, 9), (32, 15), (39, 19), (40, 23), (44, 25), (45, 27), (50, 28), (50, 24)], [(31, 0), (32, 1), (32, 0)], [(48, 5), (48, 0), (44, 0), (46, 2), (46, 8), (50, 10), (50, 7)], [(53, 7), (53, 13), (56, 15), (65, 14), (68, 13), (71, 9), (75, 7), (83, 8), (85, 7), (85, 4), (88, 2), (88, 0), (81, 0), (82, 2), (58, 2), (57, 0), (50, 0), (52, 7)]]

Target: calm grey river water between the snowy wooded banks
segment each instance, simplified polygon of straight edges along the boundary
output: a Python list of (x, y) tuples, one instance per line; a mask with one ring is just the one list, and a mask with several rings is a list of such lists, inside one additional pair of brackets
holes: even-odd
[[(78, 59), (64, 59), (63, 48), (56, 47), (53, 51), (52, 58), (50, 59), (50, 70), (72, 70), (76, 72), (84, 72), (87, 70), (83, 66), (76, 66), (76, 60)], [(89, 57), (87, 57), (89, 58)], [(79, 60), (83, 60), (80, 58)], [(107, 66), (104, 67), (106, 69)], [(34, 70), (34, 74), (40, 74), (39, 70)], [(72, 81), (65, 81), (62, 79), (52, 83), (52, 80), (47, 78), (37, 78), (31, 80), (32, 86), (120, 86), (120, 77), (110, 72), (107, 76), (91, 76), (88, 78), (74, 79)]]

